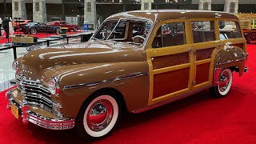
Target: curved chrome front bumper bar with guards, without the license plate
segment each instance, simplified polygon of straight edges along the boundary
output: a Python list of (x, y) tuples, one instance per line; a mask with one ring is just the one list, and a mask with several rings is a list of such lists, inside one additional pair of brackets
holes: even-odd
[(22, 117), (22, 122), (27, 124), (31, 122), (37, 126), (41, 126), (50, 130), (67, 130), (74, 128), (74, 119), (72, 118), (47, 118), (43, 115), (36, 114), (30, 111), (30, 106), (28, 105), (18, 105), (17, 102), (11, 98), (10, 91), (6, 92), (7, 106), (6, 109), (10, 110), (10, 105), (14, 104), (18, 107), (18, 113)]

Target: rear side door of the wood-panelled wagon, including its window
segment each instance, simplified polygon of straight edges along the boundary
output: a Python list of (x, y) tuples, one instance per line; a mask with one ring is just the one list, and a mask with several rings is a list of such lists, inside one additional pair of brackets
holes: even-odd
[(192, 90), (211, 86), (214, 69), (214, 50), (218, 47), (218, 29), (215, 18), (193, 18), (191, 26), (192, 47), (194, 50), (194, 75)]

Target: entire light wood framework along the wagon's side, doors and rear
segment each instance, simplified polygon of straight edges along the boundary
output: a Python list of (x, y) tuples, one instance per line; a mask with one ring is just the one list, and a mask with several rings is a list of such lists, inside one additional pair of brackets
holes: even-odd
[[(199, 43), (194, 43), (193, 39), (193, 34), (192, 32), (192, 26), (191, 22), (193, 21), (213, 21), (214, 22), (214, 34), (215, 34), (215, 41), (211, 42), (199, 42)], [(220, 40), (219, 36), (219, 27), (218, 27), (218, 22), (219, 21), (233, 21), (233, 22), (238, 22), (238, 19), (234, 18), (181, 18), (181, 19), (172, 19), (168, 21), (163, 21), (163, 22), (158, 22), (157, 26), (154, 27), (154, 30), (152, 31), (152, 34), (149, 37), (149, 40), (146, 44), (146, 57), (147, 57), (147, 62), (149, 64), (150, 68), (150, 90), (149, 90), (149, 100), (148, 100), (148, 105), (154, 105), (158, 102), (164, 102), (170, 98), (177, 97), (178, 95), (186, 94), (190, 92), (191, 90), (200, 90), (202, 87), (206, 86), (211, 86), (212, 81), (213, 81), (213, 74), (214, 74), (214, 61), (215, 61), (215, 56), (218, 54), (220, 50), (224, 48), (224, 44), (226, 42), (231, 42), (232, 44), (238, 44), (238, 43), (245, 43), (246, 39), (244, 38), (242, 34), (242, 29), (240, 26), (242, 38), (230, 38), (228, 40)], [(156, 48), (153, 49), (151, 46), (151, 43), (153, 42), (154, 35), (157, 33), (158, 28), (162, 26), (162, 24), (167, 23), (167, 22), (185, 22), (185, 34), (186, 34), (186, 44), (181, 45), (181, 46), (168, 46), (164, 48)], [(221, 46), (221, 44), (223, 46)], [(211, 58), (207, 59), (202, 59), (197, 61), (196, 59), (196, 50), (204, 50), (204, 49), (214, 49)], [(246, 46), (244, 46), (244, 49), (246, 51)], [(188, 52), (189, 50), (189, 52)], [(164, 68), (160, 68), (157, 70), (153, 70), (153, 65), (151, 62), (152, 57), (158, 57), (158, 56), (164, 56), (164, 55), (170, 55), (170, 54), (179, 54), (182, 52), (188, 52), (189, 53), (189, 58), (190, 62), (186, 64), (181, 64), (178, 66), (167, 66)], [(209, 75), (208, 75), (208, 81), (207, 82), (202, 82), (198, 83), (197, 85), (193, 86), (192, 82), (196, 78), (196, 70), (198, 65), (206, 64), (209, 63)], [(178, 90), (175, 91), (171, 94), (166, 94), (158, 98), (153, 98), (153, 90), (154, 90), (154, 74), (161, 74), (165, 72), (169, 72), (172, 70), (180, 70), (184, 68), (190, 67), (190, 76), (189, 76), (189, 83), (188, 87), (183, 90)]]

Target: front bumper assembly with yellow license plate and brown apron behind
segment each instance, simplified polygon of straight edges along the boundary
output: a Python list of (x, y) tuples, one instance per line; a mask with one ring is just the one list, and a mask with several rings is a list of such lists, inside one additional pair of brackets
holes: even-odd
[(7, 106), (6, 109), (10, 110), (11, 105), (18, 108), (18, 114), (22, 117), (22, 122), (34, 123), (50, 130), (67, 130), (74, 127), (74, 119), (72, 118), (58, 118), (47, 110), (43, 110), (39, 106), (29, 106), (26, 102), (22, 102), (21, 94), (15, 88), (6, 92)]

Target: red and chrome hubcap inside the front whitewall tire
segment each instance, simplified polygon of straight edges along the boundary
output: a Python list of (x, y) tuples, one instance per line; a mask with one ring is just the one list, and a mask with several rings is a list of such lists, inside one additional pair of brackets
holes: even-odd
[(101, 131), (109, 126), (113, 111), (113, 106), (108, 100), (102, 99), (95, 102), (87, 114), (87, 124), (90, 130)]

